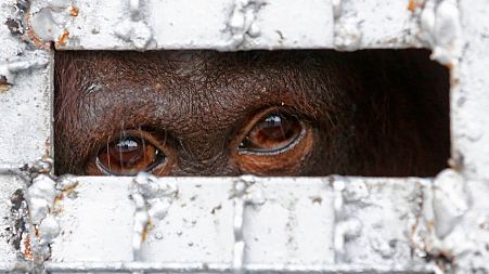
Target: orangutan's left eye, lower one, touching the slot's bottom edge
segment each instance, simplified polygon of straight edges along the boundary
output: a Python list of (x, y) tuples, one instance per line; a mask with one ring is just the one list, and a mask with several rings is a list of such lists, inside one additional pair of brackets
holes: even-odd
[(121, 136), (99, 151), (95, 164), (107, 175), (134, 175), (139, 171), (151, 171), (165, 158), (147, 140)]

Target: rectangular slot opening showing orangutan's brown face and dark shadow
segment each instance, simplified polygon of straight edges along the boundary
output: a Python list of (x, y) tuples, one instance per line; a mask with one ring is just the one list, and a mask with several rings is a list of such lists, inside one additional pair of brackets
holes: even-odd
[[(57, 52), (55, 169), (104, 174), (96, 158), (126, 134), (145, 144), (131, 172), (432, 177), (449, 158), (449, 87), (428, 54)], [(270, 115), (293, 136), (261, 130)]]

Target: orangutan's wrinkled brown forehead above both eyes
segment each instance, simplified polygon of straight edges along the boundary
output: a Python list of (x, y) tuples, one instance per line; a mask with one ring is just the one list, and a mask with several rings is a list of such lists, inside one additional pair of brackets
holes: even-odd
[[(265, 107), (310, 107), (305, 102), (320, 99), (312, 93), (323, 94), (314, 89), (327, 88), (318, 84), (318, 71), (331, 64), (318, 62), (324, 56), (333, 57), (307, 51), (64, 52), (56, 57), (57, 121), (105, 132), (119, 130), (120, 121), (189, 134), (229, 129)], [(332, 77), (327, 81), (331, 87)]]

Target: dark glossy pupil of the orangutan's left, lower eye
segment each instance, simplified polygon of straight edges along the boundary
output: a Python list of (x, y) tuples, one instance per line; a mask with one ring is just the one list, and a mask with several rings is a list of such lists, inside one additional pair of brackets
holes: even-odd
[(108, 148), (112, 161), (119, 164), (121, 168), (130, 168), (144, 153), (140, 143), (133, 138), (124, 138), (118, 143), (113, 143)]

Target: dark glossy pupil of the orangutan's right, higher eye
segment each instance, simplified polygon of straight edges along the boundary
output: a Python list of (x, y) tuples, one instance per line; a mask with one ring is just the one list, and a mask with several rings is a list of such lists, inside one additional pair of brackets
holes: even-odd
[(278, 142), (285, 141), (294, 134), (291, 130), (292, 123), (280, 115), (270, 115), (258, 127), (262, 138)]

